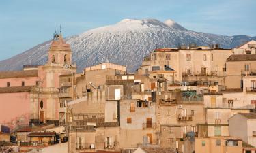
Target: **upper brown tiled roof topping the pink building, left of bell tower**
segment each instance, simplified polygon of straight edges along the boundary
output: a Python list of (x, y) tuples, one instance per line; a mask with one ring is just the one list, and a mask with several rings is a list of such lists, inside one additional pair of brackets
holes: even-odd
[(0, 71), (0, 79), (5, 78), (27, 78), (37, 77), (38, 70), (27, 70), (27, 71)]

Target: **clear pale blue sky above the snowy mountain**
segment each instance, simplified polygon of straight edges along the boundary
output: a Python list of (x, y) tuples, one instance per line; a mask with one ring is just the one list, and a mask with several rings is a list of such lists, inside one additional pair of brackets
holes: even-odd
[(189, 30), (256, 36), (255, 0), (0, 0), (0, 60), (124, 18), (175, 20)]

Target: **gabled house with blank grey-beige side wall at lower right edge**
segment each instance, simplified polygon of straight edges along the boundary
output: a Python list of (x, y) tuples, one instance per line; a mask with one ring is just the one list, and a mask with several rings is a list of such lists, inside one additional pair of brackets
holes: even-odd
[(256, 113), (238, 113), (229, 118), (229, 133), (256, 146)]

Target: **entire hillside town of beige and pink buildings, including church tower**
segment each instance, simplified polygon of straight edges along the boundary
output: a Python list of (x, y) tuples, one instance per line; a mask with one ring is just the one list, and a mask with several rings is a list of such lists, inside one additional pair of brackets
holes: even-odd
[(135, 73), (114, 63), (76, 73), (70, 46), (55, 33), (48, 63), (0, 72), (2, 148), (255, 153), (255, 50), (256, 41), (157, 48)]

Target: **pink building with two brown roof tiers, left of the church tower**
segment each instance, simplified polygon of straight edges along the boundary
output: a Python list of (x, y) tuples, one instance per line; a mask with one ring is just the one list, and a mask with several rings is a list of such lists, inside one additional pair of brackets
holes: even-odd
[(0, 72), (0, 124), (28, 124), (30, 92), (38, 84), (38, 70)]

